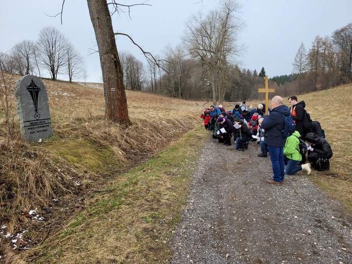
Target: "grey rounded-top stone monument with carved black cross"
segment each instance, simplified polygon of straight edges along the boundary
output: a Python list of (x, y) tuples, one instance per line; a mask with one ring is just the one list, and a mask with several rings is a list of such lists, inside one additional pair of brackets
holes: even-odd
[(36, 76), (22, 76), (16, 83), (17, 116), (21, 135), (37, 142), (52, 135), (48, 95), (44, 83)]

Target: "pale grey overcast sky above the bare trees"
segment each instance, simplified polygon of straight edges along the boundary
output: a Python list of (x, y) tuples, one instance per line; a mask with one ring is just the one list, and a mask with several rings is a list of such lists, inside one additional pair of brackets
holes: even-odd
[[(119, 1), (117, 1), (119, 2)], [(187, 18), (202, 10), (207, 13), (218, 6), (215, 0), (149, 0), (131, 8), (131, 19), (113, 17), (114, 31), (129, 34), (145, 51), (161, 54), (166, 45), (180, 43)], [(123, 1), (119, 2), (123, 3)], [(124, 4), (142, 3), (138, 0)], [(237, 58), (240, 68), (260, 72), (269, 78), (292, 73), (292, 63), (303, 42), (306, 50), (316, 36), (331, 36), (333, 31), (352, 22), (352, 0), (239, 0), (247, 29), (240, 43), (247, 52)], [(2, 1), (0, 8), (0, 51), (7, 52), (23, 40), (38, 39), (45, 26), (55, 26), (84, 56), (88, 82), (102, 82), (99, 55), (85, 0)], [(128, 51), (146, 64), (140, 50), (126, 37), (117, 39), (118, 51)], [(90, 54), (90, 55), (89, 55)], [(45, 77), (49, 77), (45, 76)], [(83, 81), (83, 80), (81, 80)]]

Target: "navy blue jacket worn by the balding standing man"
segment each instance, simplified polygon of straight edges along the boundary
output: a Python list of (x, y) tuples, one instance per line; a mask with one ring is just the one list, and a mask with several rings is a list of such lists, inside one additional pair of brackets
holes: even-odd
[(271, 110), (270, 115), (265, 116), (262, 127), (265, 129), (264, 142), (270, 146), (283, 147), (286, 139), (281, 136), (284, 116), (291, 115), (290, 109), (285, 105), (280, 105)]

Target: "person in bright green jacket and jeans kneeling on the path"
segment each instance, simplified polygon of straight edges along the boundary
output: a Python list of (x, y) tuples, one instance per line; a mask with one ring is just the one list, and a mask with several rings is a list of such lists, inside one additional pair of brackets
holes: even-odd
[[(286, 144), (283, 147), (283, 155), (286, 157), (285, 175), (294, 175), (295, 173), (305, 170), (309, 175), (311, 173), (310, 163), (299, 165), (302, 160), (302, 155), (299, 151), (299, 144), (301, 137), (300, 133), (296, 130), (290, 137), (286, 139)], [(281, 181), (283, 183), (283, 181)]]

